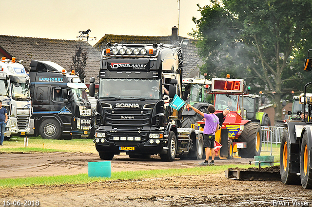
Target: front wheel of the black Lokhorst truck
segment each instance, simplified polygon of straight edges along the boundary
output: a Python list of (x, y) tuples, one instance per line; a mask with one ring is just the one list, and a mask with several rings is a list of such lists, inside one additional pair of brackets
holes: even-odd
[(45, 139), (59, 139), (62, 134), (59, 122), (53, 119), (42, 121), (39, 126), (39, 133)]

